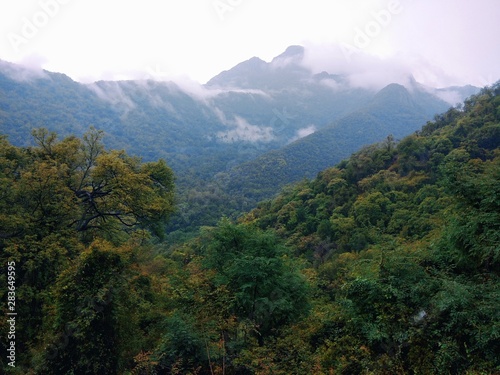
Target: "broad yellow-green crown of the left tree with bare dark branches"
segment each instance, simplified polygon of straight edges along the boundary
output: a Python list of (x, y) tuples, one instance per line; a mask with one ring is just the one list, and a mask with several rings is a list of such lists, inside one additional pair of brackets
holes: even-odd
[[(173, 173), (163, 160), (141, 163), (124, 151), (105, 151), (103, 133), (90, 129), (80, 140), (57, 140), (45, 129), (33, 132), (36, 147), (17, 151), (24, 164), (10, 168), (4, 184), (17, 188), (13, 197), (25, 221), (3, 237), (73, 229), (113, 239), (121, 229), (149, 229), (162, 234), (173, 212)], [(5, 141), (3, 141), (5, 143)], [(15, 163), (13, 149), (7, 150)], [(19, 156), (17, 156), (19, 159)], [(23, 197), (23, 199), (21, 199)]]

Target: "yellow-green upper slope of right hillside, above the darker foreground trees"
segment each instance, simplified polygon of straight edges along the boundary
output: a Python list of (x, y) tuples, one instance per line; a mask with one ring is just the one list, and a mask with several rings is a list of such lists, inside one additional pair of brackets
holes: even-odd
[[(328, 240), (332, 248), (342, 251), (363, 250), (371, 240), (378, 241), (385, 235), (401, 235), (398, 241), (403, 241), (413, 239), (413, 232), (422, 235), (432, 232), (430, 228), (438, 229), (441, 222), (437, 219), (447, 211), (445, 203), (451, 203), (448, 199), (466, 193), (458, 186), (466, 183), (461, 179), (469, 184), (475, 173), (494, 168), (500, 145), (498, 91), (498, 84), (484, 89), (468, 99), (462, 110), (452, 108), (436, 116), (401, 141), (388, 138), (365, 146), (336, 167), (321, 171), (315, 179), (287, 188), (276, 199), (261, 203), (249, 217), (259, 226), (273, 226), (287, 238), (312, 236)], [(493, 190), (486, 195), (494, 194), (495, 188), (490, 187)], [(472, 186), (467, 189), (472, 193)], [(365, 204), (368, 206), (363, 207)], [(404, 212), (411, 220), (404, 219), (401, 213), (394, 215), (398, 204), (409, 205)], [(377, 220), (362, 215), (370, 205), (381, 205)], [(431, 209), (432, 215), (425, 207)], [(416, 212), (420, 214), (415, 215)], [(306, 216), (312, 221), (305, 220)], [(290, 221), (290, 217), (303, 220)], [(346, 231), (350, 240), (341, 238), (341, 232), (335, 229), (337, 220), (350, 222), (361, 231), (366, 229), (364, 245), (347, 245), (357, 236)], [(326, 229), (329, 230), (324, 232)], [(368, 233), (376, 238), (367, 236)]]

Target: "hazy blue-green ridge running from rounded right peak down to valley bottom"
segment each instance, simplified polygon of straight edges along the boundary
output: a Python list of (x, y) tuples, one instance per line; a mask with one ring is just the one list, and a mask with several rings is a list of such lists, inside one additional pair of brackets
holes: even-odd
[[(280, 149), (259, 156), (263, 150), (256, 149), (256, 145), (242, 147), (240, 152), (252, 160), (241, 164), (228, 161), (225, 170), (201, 186), (191, 180), (189, 186), (180, 189), (182, 209), (180, 215), (174, 216), (169, 232), (214, 225), (221, 215), (237, 217), (261, 200), (275, 196), (283, 186), (313, 178), (363, 145), (381, 141), (388, 134), (398, 139), (411, 134), (448, 108), (435, 102), (431, 94), (419, 91), (416, 82), (414, 85), (410, 92), (391, 84), (374, 95), (363, 109)], [(324, 105), (331, 106), (331, 100)]]

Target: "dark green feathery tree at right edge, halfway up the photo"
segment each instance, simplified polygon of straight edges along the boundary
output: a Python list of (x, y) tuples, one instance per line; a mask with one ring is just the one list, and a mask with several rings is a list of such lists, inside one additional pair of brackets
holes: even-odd
[(445, 186), (457, 201), (445, 247), (459, 266), (495, 272), (500, 265), (500, 157), (483, 162), (466, 156), (454, 150), (442, 167)]

